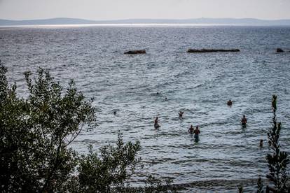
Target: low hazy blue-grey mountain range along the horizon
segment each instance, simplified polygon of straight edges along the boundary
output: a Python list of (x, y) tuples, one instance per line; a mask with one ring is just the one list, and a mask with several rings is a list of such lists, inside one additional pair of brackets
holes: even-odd
[(162, 19), (130, 19), (130, 20), (82, 20), (75, 18), (52, 18), (46, 20), (0, 20), (0, 26), (17, 25), (43, 25), (43, 24), (224, 24), (224, 25), (250, 25), (250, 26), (277, 26), (288, 25), (290, 20), (258, 20), (252, 18), (197, 18), (186, 20)]

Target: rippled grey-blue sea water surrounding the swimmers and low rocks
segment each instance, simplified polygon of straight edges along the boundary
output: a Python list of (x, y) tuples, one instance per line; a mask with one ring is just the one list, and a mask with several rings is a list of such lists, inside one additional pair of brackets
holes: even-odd
[[(241, 52), (189, 54), (188, 48)], [(78, 152), (115, 143), (120, 130), (125, 141), (141, 141), (146, 166), (135, 183), (152, 173), (191, 191), (235, 192), (240, 183), (252, 191), (256, 178), (265, 178), (272, 94), (278, 96), (282, 148), (289, 152), (290, 52), (276, 48), (290, 50), (290, 27), (0, 29), (0, 59), (20, 95), (26, 92), (22, 73), (42, 66), (62, 85), (74, 78), (95, 98), (98, 127), (78, 136)], [(134, 49), (147, 54), (123, 54)], [(153, 128), (156, 116), (160, 129)], [(187, 132), (191, 124), (200, 126), (198, 143)]]

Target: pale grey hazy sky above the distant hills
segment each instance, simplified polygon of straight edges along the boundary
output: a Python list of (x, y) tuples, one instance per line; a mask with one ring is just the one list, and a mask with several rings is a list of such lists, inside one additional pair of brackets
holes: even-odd
[(51, 17), (90, 20), (196, 17), (290, 19), (290, 0), (0, 0), (0, 19)]

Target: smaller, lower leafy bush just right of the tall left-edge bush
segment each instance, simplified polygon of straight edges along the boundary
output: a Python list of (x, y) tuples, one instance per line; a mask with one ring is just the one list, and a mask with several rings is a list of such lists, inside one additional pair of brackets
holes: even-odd
[(80, 192), (110, 192), (111, 189), (121, 192), (125, 189), (125, 180), (134, 173), (140, 159), (135, 155), (140, 150), (137, 143), (124, 145), (122, 136), (118, 134), (116, 147), (104, 146), (100, 156), (89, 148), (89, 154), (83, 155), (78, 168), (78, 187)]

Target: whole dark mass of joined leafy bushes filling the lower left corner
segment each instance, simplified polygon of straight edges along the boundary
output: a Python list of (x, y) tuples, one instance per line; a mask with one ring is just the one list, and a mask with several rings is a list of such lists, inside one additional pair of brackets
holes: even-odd
[[(167, 190), (149, 176), (150, 186), (131, 188), (127, 180), (137, 166), (139, 141), (89, 148), (78, 155), (69, 148), (83, 127), (95, 124), (95, 108), (71, 80), (67, 90), (48, 71), (26, 72), (27, 98), (8, 85), (0, 62), (0, 192), (153, 192)], [(140, 190), (140, 191), (139, 191)], [(158, 189), (159, 190), (159, 189)]]

